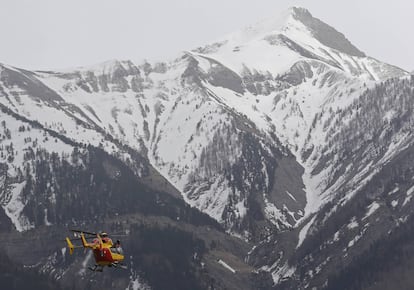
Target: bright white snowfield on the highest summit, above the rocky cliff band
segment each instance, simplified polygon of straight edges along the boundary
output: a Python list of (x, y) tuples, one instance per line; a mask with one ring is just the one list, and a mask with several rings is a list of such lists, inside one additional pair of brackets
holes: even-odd
[[(207, 53), (236, 72), (241, 72), (247, 66), (259, 72), (269, 71), (278, 75), (297, 61), (311, 58), (367, 80), (383, 80), (407, 74), (397, 67), (366, 57), (361, 52), (347, 54), (321, 43), (315, 37), (318, 33), (315, 23), (316, 26), (327, 26), (313, 18), (306, 9), (291, 8), (281, 17), (259, 22), (218, 40), (215, 46), (209, 45), (196, 51)], [(331, 39), (346, 43), (353, 51), (357, 50), (341, 33), (331, 29)]]

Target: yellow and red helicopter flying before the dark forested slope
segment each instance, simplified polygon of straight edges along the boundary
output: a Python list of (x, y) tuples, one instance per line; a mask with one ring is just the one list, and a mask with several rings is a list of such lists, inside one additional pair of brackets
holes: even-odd
[[(122, 264), (125, 256), (119, 240), (117, 240), (114, 244), (112, 239), (109, 238), (108, 234), (105, 232), (94, 233), (74, 229), (71, 229), (70, 231), (72, 231), (75, 236), (80, 236), (76, 239), (80, 239), (82, 241), (82, 245), (75, 246), (69, 237), (66, 237), (69, 253), (71, 255), (77, 248), (91, 249), (93, 251), (95, 265), (93, 267), (88, 267), (89, 270), (94, 272), (102, 272), (105, 266), (126, 269), (126, 267)], [(88, 239), (92, 238), (93, 241), (88, 242)]]

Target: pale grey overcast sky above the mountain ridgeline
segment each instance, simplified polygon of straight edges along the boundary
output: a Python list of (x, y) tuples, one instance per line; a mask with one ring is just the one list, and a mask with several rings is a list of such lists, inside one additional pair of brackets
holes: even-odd
[(412, 0), (0, 0), (0, 62), (53, 69), (168, 60), (290, 6), (366, 54), (414, 70)]

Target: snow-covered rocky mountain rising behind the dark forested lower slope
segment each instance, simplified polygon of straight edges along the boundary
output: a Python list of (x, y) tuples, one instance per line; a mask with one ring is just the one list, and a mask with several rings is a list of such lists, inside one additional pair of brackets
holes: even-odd
[[(252, 242), (250, 263), (275, 283), (291, 277), (292, 287), (318, 287), (334, 263), (329, 255), (358, 255), (364, 247), (348, 253), (359, 240), (378, 238), (366, 233), (401, 223), (378, 230), (375, 216), (400, 207), (403, 220), (411, 214), (408, 181), (378, 190), (372, 183), (412, 147), (413, 88), (407, 72), (367, 56), (303, 8), (169, 62), (53, 72), (1, 65), (0, 201), (18, 231), (56, 223), (53, 206), (36, 220), (25, 215), (35, 172), (23, 152), (36, 144), (69, 156), (92, 145), (139, 178), (158, 172), (169, 191)], [(53, 200), (59, 190), (48, 188)], [(407, 197), (389, 200), (398, 193)], [(363, 210), (354, 214), (353, 204)], [(313, 242), (319, 232), (332, 239)], [(328, 246), (341, 239), (347, 247)], [(329, 259), (315, 259), (315, 249)], [(298, 257), (309, 263), (296, 265)]]

